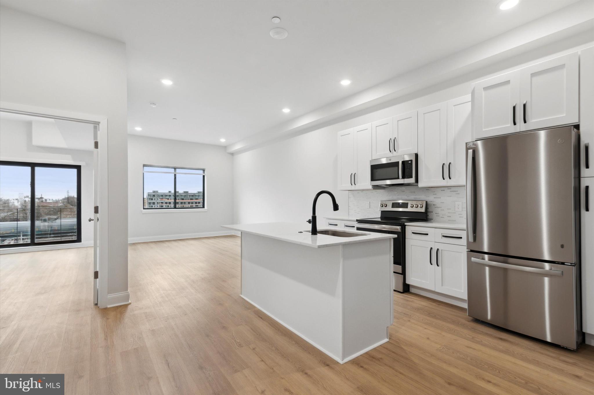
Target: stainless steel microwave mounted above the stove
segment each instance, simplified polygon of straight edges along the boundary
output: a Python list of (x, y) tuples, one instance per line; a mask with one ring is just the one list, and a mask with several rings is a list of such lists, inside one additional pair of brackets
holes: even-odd
[(395, 187), (416, 185), (417, 154), (391, 156), (371, 160), (371, 185), (374, 187)]

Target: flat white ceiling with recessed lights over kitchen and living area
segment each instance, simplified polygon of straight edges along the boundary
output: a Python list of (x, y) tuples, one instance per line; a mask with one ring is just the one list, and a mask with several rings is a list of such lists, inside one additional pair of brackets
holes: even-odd
[[(127, 44), (129, 133), (227, 145), (573, 2), (522, 0), (508, 11), (498, 0), (1, 4)], [(289, 36), (271, 38), (274, 27)]]

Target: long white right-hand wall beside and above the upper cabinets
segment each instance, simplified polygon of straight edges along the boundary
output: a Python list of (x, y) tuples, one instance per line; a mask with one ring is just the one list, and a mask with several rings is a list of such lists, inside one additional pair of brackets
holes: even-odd
[[(592, 37), (587, 40), (592, 40)], [(347, 121), (235, 154), (235, 222), (304, 221), (305, 225), (305, 220), (311, 216), (312, 200), (320, 190), (333, 192), (340, 205), (339, 213), (334, 214), (346, 216), (349, 214), (348, 193), (337, 191), (336, 134), (339, 131), (468, 95), (476, 81), (593, 44), (592, 41), (584, 44), (583, 35), (570, 37), (525, 53), (521, 57), (485, 65), (471, 76), (406, 95), (396, 101), (364, 111)], [(427, 190), (429, 201), (430, 195), (437, 191), (436, 188), (423, 189)], [(397, 188), (390, 190), (394, 197), (397, 197)], [(381, 191), (369, 193), (380, 195)], [(318, 217), (332, 213), (330, 202), (324, 200), (321, 198), (318, 201)]]

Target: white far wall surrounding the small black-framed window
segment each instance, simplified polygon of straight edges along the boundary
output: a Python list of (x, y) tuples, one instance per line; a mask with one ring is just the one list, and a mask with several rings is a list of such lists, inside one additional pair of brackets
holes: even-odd
[[(207, 211), (143, 211), (143, 165), (206, 169)], [(229, 234), (220, 226), (233, 223), (232, 155), (223, 146), (129, 135), (128, 219), (130, 242)]]

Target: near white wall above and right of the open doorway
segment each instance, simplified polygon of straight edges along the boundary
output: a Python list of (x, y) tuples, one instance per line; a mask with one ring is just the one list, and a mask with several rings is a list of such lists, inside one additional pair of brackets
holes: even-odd
[(0, 52), (0, 101), (108, 118), (108, 294), (127, 292), (125, 44), (1, 7)]

